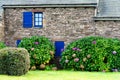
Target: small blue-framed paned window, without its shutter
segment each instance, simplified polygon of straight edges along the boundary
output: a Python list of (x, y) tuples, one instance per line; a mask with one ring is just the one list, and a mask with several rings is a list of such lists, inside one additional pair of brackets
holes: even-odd
[(34, 27), (36, 28), (43, 27), (43, 13), (42, 12), (34, 13)]

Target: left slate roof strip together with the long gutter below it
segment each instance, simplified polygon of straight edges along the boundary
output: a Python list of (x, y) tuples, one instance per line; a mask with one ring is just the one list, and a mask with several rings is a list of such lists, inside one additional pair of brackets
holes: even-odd
[(96, 0), (17, 0), (2, 1), (3, 7), (96, 7)]

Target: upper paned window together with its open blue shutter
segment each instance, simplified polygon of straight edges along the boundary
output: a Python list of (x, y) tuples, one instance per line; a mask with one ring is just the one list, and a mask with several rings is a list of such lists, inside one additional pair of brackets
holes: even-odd
[[(33, 16), (34, 14), (34, 16)], [(24, 28), (42, 28), (43, 13), (42, 12), (23, 12), (23, 27)]]

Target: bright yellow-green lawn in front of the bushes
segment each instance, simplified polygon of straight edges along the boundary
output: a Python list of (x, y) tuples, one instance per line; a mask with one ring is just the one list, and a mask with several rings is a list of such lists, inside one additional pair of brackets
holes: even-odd
[(0, 75), (0, 80), (120, 80), (119, 72), (29, 71), (23, 76)]

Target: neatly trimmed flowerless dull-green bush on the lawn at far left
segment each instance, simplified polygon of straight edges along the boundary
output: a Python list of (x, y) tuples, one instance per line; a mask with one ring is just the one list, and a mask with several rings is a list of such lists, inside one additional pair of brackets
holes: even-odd
[(29, 53), (24, 48), (4, 48), (0, 50), (1, 74), (23, 75), (30, 68)]

